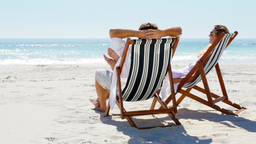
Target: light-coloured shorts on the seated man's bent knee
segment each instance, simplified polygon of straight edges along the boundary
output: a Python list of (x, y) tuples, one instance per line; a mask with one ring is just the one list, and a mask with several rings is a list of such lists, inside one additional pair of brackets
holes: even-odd
[(95, 73), (95, 77), (99, 82), (99, 84), (102, 86), (102, 88), (109, 89), (109, 90), (111, 87), (112, 76), (113, 76), (113, 73), (105, 69), (96, 70), (96, 73)]

